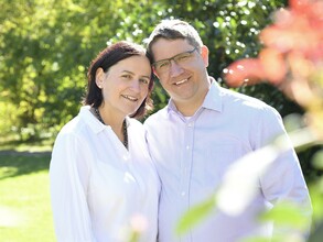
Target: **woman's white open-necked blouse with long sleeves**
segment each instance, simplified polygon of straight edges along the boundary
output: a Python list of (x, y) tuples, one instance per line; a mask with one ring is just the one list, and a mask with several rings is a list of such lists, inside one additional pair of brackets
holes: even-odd
[(88, 106), (58, 133), (50, 167), (57, 241), (157, 240), (160, 182), (142, 124), (127, 124), (129, 151)]

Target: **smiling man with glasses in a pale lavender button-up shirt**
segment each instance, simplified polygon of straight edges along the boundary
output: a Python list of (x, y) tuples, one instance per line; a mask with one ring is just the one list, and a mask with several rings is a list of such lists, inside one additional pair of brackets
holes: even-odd
[(164, 20), (147, 44), (154, 62), (153, 72), (171, 97), (164, 109), (144, 122), (150, 153), (162, 183), (159, 241), (270, 238), (272, 224), (259, 223), (259, 212), (280, 200), (310, 204), (292, 148), (279, 156), (266, 174), (259, 174), (257, 194), (244, 212), (232, 216), (217, 210), (184, 235), (175, 233), (180, 218), (216, 191), (229, 165), (263, 147), (274, 136), (287, 134), (273, 108), (224, 89), (208, 76), (208, 48), (189, 23)]

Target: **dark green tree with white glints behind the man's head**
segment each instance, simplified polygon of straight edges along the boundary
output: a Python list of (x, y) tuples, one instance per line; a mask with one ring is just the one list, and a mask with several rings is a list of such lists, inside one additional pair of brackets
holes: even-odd
[[(122, 33), (121, 38), (131, 37), (129, 32), (125, 32), (127, 29), (130, 30), (130, 34), (136, 33), (137, 36), (140, 36), (139, 41), (141, 41), (164, 18), (185, 20), (197, 29), (204, 44), (209, 48), (209, 74), (220, 85), (226, 86), (222, 77), (223, 69), (236, 59), (258, 54), (260, 30), (272, 22), (271, 13), (286, 4), (284, 0), (159, 0), (151, 4), (134, 3), (131, 6), (132, 14), (128, 14), (121, 22), (118, 33)], [(127, 9), (123, 8), (120, 11), (126, 13)], [(302, 112), (298, 105), (269, 85), (239, 87), (237, 91), (266, 101), (277, 108), (282, 116), (295, 111)], [(153, 95), (157, 111), (166, 101), (166, 95), (159, 82), (157, 82)]]

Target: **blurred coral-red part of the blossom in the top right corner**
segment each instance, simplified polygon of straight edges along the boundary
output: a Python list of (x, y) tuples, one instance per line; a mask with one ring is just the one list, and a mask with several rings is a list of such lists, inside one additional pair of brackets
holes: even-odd
[(239, 59), (224, 70), (229, 86), (309, 80), (323, 65), (323, 1), (290, 0), (290, 9), (274, 13), (274, 23), (261, 31), (260, 41), (265, 48), (258, 58)]

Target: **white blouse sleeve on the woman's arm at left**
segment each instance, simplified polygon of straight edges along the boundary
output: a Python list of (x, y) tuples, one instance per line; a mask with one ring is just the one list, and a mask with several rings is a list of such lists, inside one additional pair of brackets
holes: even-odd
[(94, 242), (86, 199), (86, 156), (79, 139), (58, 134), (50, 166), (51, 199), (58, 242)]

